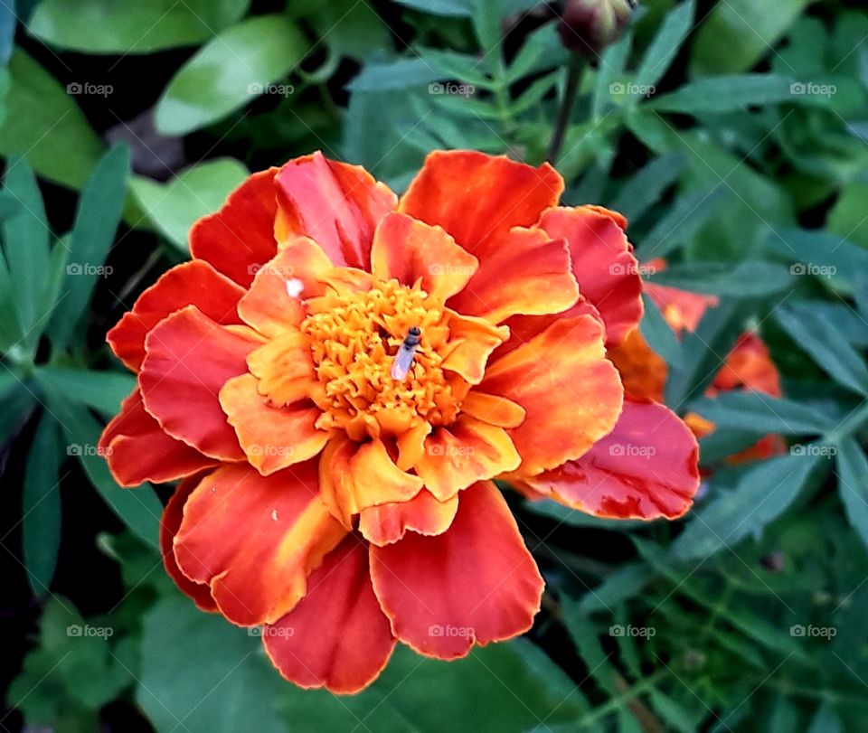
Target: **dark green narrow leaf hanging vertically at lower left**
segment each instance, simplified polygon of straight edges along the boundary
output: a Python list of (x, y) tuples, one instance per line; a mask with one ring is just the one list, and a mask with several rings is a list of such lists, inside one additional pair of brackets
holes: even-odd
[(33, 595), (49, 592), (61, 546), (61, 456), (57, 425), (43, 414), (27, 456), (22, 496), (22, 544)]

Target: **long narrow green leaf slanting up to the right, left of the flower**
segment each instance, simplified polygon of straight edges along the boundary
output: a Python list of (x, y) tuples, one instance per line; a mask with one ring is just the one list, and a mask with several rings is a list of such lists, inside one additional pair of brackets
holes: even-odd
[(97, 278), (118, 229), (129, 174), (129, 148), (116, 146), (99, 162), (84, 187), (75, 212), (64, 286), (63, 307), (58, 308), (50, 329), (52, 343), (63, 348), (70, 343), (85, 315)]

